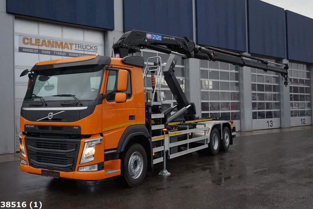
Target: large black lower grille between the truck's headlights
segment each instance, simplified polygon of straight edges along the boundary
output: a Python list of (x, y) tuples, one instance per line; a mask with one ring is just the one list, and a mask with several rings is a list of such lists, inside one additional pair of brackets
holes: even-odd
[(71, 172), (75, 170), (80, 147), (78, 139), (25, 137), (30, 166)]

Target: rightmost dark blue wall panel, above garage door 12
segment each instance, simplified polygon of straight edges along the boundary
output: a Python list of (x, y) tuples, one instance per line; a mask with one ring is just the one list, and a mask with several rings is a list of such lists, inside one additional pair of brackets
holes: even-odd
[(313, 19), (285, 10), (287, 57), (313, 63)]

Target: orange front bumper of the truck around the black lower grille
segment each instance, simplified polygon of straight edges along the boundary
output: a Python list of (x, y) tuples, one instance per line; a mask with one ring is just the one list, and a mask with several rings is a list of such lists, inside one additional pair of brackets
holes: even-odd
[[(51, 151), (52, 146), (56, 146), (54, 143), (56, 140), (51, 139), (51, 144), (47, 145), (47, 138), (35, 138), (34, 137), (27, 137), (25, 135), (21, 135), (22, 137), (22, 142), (25, 147), (25, 154), (26, 158), (20, 155), (20, 158), (23, 160), (26, 160), (27, 165), (20, 163), (20, 169), (22, 171), (32, 173), (32, 174), (39, 174), (41, 175), (42, 170), (50, 170), (50, 171), (57, 171), (60, 173), (60, 178), (67, 178), (67, 179), (77, 179), (77, 180), (101, 180), (101, 179), (106, 179), (110, 178), (116, 175), (121, 174), (121, 160), (108, 160), (104, 161), (104, 142), (98, 143), (95, 145), (95, 155), (94, 155), (94, 160), (87, 162), (87, 163), (82, 163), (80, 164), (80, 158), (82, 156), (82, 152), (84, 149), (84, 144), (85, 141), (93, 140), (96, 138), (99, 138), (99, 134), (94, 134), (90, 138), (83, 138), (80, 140), (80, 142), (77, 142), (74, 144), (76, 146), (76, 150), (74, 150), (74, 147), (68, 147), (68, 149), (73, 150), (73, 152), (69, 152), (70, 154), (72, 153), (72, 156), (70, 155), (65, 155), (61, 156), (61, 158), (73, 158), (73, 165), (70, 167), (67, 167), (64, 169), (62, 168), (61, 165), (55, 165), (52, 164), (51, 162), (44, 162), (44, 160), (40, 161), (38, 164), (37, 158), (34, 158), (39, 156), (41, 159), (43, 158), (53, 158), (54, 162), (56, 159), (58, 159), (58, 156), (62, 155), (62, 153), (58, 153), (55, 148), (53, 151)], [(26, 137), (26, 139), (25, 139)], [(33, 142), (31, 142), (33, 141)], [(69, 140), (71, 141), (71, 140)], [(26, 143), (25, 143), (26, 142)], [(38, 143), (40, 142), (40, 143)], [(45, 143), (43, 145), (43, 143)], [(62, 143), (64, 143), (64, 140), (62, 140)], [(50, 146), (50, 147), (49, 147)], [(39, 148), (41, 150), (38, 150)], [(44, 147), (44, 148), (43, 148)], [(50, 150), (48, 149), (50, 148)], [(64, 147), (63, 153), (64, 153)], [(66, 151), (67, 148), (65, 148)], [(67, 152), (67, 151), (66, 151)], [(35, 159), (35, 160), (34, 160)], [(40, 158), (38, 158), (40, 159)], [(46, 164), (44, 164), (46, 163)], [(63, 162), (58, 162), (58, 163), (63, 163)], [(98, 171), (78, 171), (78, 168), (81, 166), (88, 166), (88, 165), (93, 165), (93, 164), (101, 164), (102, 166), (98, 166)], [(112, 170), (115, 172), (112, 173)]]

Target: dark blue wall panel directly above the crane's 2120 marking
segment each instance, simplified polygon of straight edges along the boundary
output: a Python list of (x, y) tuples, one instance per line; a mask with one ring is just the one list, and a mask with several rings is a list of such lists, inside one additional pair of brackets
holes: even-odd
[(192, 0), (124, 0), (124, 31), (186, 36), (193, 40)]

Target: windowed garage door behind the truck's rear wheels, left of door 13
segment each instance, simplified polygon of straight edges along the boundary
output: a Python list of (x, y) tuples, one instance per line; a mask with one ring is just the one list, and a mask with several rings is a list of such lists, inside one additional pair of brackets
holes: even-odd
[(240, 131), (239, 67), (201, 60), (200, 78), (202, 118), (233, 120)]

